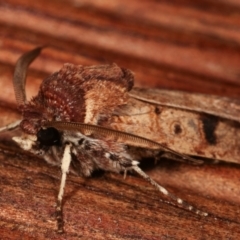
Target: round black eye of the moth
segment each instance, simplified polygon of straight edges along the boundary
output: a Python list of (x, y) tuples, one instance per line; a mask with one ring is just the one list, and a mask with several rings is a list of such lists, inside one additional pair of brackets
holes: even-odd
[(41, 128), (37, 133), (37, 141), (43, 146), (59, 145), (60, 139), (60, 133), (53, 127), (46, 129)]

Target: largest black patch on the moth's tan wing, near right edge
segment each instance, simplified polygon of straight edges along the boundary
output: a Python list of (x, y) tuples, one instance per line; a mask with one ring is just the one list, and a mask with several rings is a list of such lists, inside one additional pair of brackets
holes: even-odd
[(201, 115), (200, 120), (202, 121), (203, 133), (206, 141), (210, 145), (215, 145), (217, 143), (215, 130), (218, 125), (219, 119), (217, 117), (204, 114)]

